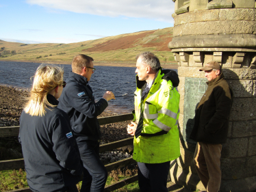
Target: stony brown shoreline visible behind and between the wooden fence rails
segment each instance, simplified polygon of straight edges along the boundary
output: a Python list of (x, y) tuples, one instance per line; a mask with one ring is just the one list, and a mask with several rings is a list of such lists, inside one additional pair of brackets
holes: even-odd
[[(0, 126), (19, 125), (19, 118), (23, 111), (23, 106), (25, 105), (28, 94), (29, 93), (27, 91), (0, 85)], [(103, 112), (99, 115), (99, 118), (111, 115), (116, 114)], [(129, 122), (130, 121), (118, 122), (101, 126), (101, 142), (110, 143), (131, 137), (126, 131), (126, 127)], [(119, 156), (121, 154), (122, 156), (130, 156), (128, 150), (114, 150), (114, 152), (118, 153)], [(0, 137), (0, 160), (10, 159), (11, 153), (13, 154), (12, 159), (22, 158), (21, 145), (18, 143), (18, 138)], [(102, 160), (105, 161), (104, 163), (107, 163), (106, 160), (118, 161), (118, 158), (114, 158), (112, 156), (114, 155), (110, 152), (110, 154), (103, 156)]]

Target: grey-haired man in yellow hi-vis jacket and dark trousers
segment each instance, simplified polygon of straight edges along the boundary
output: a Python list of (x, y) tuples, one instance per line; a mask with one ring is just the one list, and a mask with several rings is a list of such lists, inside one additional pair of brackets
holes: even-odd
[(165, 191), (170, 161), (179, 150), (179, 77), (164, 70), (150, 52), (136, 56), (137, 89), (135, 122), (127, 127), (134, 135), (133, 159), (138, 162), (140, 191)]

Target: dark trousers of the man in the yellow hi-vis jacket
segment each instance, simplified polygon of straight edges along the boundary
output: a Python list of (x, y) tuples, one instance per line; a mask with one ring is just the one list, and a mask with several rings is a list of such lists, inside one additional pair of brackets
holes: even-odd
[(138, 162), (138, 183), (142, 192), (168, 192), (166, 183), (170, 161), (165, 163)]

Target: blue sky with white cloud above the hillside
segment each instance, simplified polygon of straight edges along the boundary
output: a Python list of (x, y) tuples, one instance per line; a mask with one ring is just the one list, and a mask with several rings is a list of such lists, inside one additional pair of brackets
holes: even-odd
[(0, 0), (0, 40), (73, 43), (173, 27), (171, 0)]

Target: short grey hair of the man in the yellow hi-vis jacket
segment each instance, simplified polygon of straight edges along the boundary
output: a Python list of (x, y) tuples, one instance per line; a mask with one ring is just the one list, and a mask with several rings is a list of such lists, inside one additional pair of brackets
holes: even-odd
[(149, 51), (139, 53), (138, 55), (136, 55), (136, 60), (139, 57), (142, 59), (142, 63), (144, 64), (144, 66), (149, 66), (155, 71), (161, 68), (159, 59), (153, 53)]

